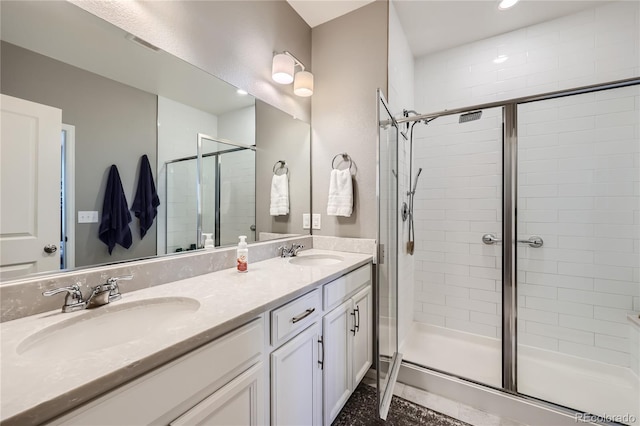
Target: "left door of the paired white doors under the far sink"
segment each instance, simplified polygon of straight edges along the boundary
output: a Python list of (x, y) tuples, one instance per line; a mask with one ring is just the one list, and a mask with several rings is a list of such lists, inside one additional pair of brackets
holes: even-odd
[(353, 390), (351, 351), (355, 320), (351, 299), (322, 319), (325, 344), (323, 371), (324, 424), (330, 425)]

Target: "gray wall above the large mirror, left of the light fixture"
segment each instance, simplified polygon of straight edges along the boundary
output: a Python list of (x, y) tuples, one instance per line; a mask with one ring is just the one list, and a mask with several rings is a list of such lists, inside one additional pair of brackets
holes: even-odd
[(313, 72), (311, 29), (285, 1), (71, 0), (159, 48), (306, 122), (311, 101), (271, 80), (274, 51)]

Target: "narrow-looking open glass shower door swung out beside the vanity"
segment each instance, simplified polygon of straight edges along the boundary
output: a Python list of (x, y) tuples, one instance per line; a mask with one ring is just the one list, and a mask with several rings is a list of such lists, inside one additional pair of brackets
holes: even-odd
[(402, 361), (398, 353), (398, 127), (378, 91), (378, 407), (386, 419)]

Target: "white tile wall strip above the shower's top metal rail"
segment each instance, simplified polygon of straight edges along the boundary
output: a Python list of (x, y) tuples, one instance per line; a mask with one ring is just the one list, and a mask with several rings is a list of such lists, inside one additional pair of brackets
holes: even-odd
[[(416, 58), (416, 106), (430, 113), (637, 77), (639, 9), (612, 2)], [(500, 55), (507, 60), (494, 63)]]

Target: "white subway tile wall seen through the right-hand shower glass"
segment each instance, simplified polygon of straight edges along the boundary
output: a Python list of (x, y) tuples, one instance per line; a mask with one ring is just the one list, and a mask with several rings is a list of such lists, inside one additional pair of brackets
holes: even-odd
[(632, 366), (639, 129), (638, 86), (518, 108), (518, 236), (545, 241), (518, 247), (520, 343)]

